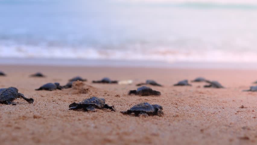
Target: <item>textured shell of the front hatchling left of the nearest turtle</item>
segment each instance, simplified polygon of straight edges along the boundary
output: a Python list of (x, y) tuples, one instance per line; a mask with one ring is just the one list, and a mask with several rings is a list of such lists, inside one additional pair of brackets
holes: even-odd
[(79, 102), (78, 104), (81, 105), (94, 105), (98, 108), (103, 108), (105, 105), (105, 99), (104, 98), (97, 98), (97, 97), (90, 97), (85, 99), (84, 101)]

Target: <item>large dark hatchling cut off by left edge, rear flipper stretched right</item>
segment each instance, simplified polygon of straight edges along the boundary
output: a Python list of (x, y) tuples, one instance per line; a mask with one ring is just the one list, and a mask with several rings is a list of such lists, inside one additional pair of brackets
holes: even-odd
[(6, 105), (16, 105), (16, 103), (12, 102), (16, 98), (23, 98), (28, 103), (33, 103), (33, 98), (26, 98), (23, 94), (18, 92), (18, 89), (15, 87), (2, 88), (0, 89), (0, 103)]

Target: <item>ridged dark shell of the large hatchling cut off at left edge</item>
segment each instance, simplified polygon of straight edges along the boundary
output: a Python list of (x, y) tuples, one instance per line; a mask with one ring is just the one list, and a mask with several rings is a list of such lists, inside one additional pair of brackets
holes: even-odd
[(0, 89), (0, 102), (13, 101), (18, 96), (18, 89), (14, 87)]

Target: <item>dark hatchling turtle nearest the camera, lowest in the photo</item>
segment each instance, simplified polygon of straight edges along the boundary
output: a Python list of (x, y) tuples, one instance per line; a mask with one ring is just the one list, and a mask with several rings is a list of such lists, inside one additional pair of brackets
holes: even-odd
[(134, 113), (135, 116), (140, 116), (140, 115), (145, 115), (145, 116), (162, 116), (163, 115), (163, 111), (162, 111), (162, 106), (160, 105), (151, 105), (147, 102), (144, 103), (140, 103), (137, 104), (135, 106), (133, 106), (132, 108), (130, 108), (127, 111), (121, 111), (122, 114), (132, 114)]

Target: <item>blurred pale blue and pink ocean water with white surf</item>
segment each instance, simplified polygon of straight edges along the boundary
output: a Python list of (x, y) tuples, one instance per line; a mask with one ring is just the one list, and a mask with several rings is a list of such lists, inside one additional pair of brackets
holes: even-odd
[(0, 57), (256, 63), (256, 26), (244, 1), (0, 0)]

